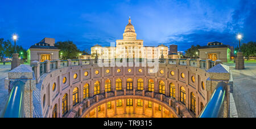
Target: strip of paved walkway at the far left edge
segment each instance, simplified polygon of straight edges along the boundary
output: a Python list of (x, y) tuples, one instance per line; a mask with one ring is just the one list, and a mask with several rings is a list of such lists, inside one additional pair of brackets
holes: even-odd
[(8, 90), (5, 89), (5, 78), (8, 76), (8, 72), (11, 70), (11, 66), (0, 66), (0, 113), (5, 108), (5, 103), (8, 97)]

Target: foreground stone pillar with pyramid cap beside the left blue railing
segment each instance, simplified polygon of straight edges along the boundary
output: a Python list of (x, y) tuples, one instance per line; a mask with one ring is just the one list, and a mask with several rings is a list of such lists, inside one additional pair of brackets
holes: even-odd
[(14, 87), (23, 89), (23, 111), (26, 118), (33, 117), (33, 91), (36, 89), (36, 80), (33, 75), (32, 67), (20, 65), (8, 73), (8, 78), (5, 79), (5, 88), (13, 89)]

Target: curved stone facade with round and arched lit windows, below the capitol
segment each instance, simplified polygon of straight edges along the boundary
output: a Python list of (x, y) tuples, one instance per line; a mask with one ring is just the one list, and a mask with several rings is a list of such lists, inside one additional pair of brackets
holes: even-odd
[[(182, 63), (179, 59), (174, 61), (181, 65), (172, 64), (166, 60), (166, 63), (158, 64), (158, 71), (155, 73), (150, 73), (152, 67), (148, 65), (142, 67), (141, 63), (139, 66), (129, 63), (133, 65), (130, 67), (129, 65), (127, 67), (99, 67), (98, 64), (92, 62), (85, 65), (82, 60), (77, 61), (80, 65), (73, 65), (73, 61), (69, 60), (69, 67), (60, 68), (61, 62), (57, 61), (55, 62), (57, 69), (49, 70), (50, 62), (47, 62), (48, 73), (36, 76), (38, 84), (36, 84), (34, 96), (35, 94), (39, 96), (34, 97), (34, 117), (53, 117), (55, 111), (56, 117), (89, 117), (89, 111), (96, 109), (99, 105), (121, 98), (122, 100), (150, 101), (161, 105), (169, 112), (170, 117), (197, 117), (209, 100), (210, 92), (206, 88), (209, 74), (205, 68), (196, 67), (199, 63), (197, 65), (193, 63), (195, 65), (193, 66), (189, 59)], [(34, 69), (39, 70), (39, 68)], [(121, 91), (117, 91), (117, 79), (122, 81)], [(150, 91), (149, 80), (150, 85), (154, 84), (154, 92)], [(97, 92), (99, 91), (97, 88), (94, 89), (96, 81), (100, 82), (100, 92)], [(118, 83), (120, 85), (120, 82)], [(87, 84), (89, 95), (85, 98), (84, 86)], [(132, 89), (129, 87), (129, 90), (127, 85), (132, 85)], [(78, 90), (74, 95), (76, 96), (74, 102), (75, 88)], [(67, 96), (67, 101), (65, 101), (67, 109), (63, 108), (65, 95)], [(37, 100), (40, 101), (37, 102)]]

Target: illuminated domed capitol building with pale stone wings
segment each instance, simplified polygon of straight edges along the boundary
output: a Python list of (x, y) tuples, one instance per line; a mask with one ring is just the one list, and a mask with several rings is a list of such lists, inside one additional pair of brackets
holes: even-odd
[(159, 45), (144, 46), (143, 40), (137, 40), (137, 33), (133, 24), (131, 24), (131, 18), (129, 23), (125, 27), (125, 33), (123, 33), (123, 40), (117, 40), (116, 45), (102, 47), (95, 45), (91, 48), (92, 58), (95, 58), (97, 53), (100, 59), (113, 59), (113, 58), (146, 58), (146, 59), (159, 59), (161, 55), (164, 58), (168, 58), (168, 46)]

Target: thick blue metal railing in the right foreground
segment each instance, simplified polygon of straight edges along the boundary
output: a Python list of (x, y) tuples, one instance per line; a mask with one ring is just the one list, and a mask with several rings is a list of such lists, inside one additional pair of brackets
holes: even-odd
[(199, 118), (218, 118), (220, 117), (224, 106), (224, 99), (226, 95), (226, 83), (223, 81), (218, 83), (215, 91), (212, 94), (209, 102), (204, 110), (199, 115)]

